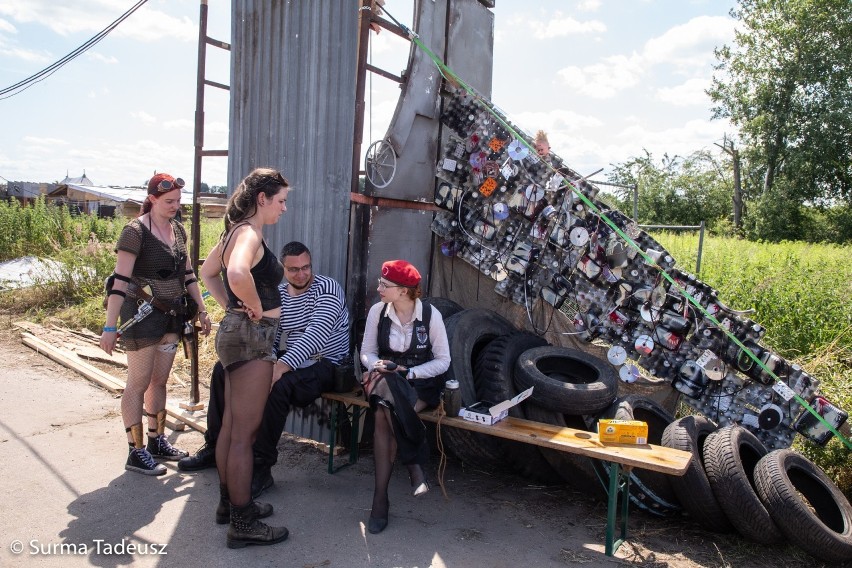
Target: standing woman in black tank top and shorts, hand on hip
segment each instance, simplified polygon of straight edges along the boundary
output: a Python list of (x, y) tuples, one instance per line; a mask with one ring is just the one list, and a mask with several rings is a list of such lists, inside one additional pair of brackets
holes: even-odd
[(281, 312), (278, 284), (284, 276), (262, 229), (287, 210), (289, 189), (276, 170), (258, 168), (247, 175), (228, 199), (225, 231), (201, 269), (210, 294), (227, 312), (216, 334), (216, 354), (226, 374), (225, 412), (216, 441), (216, 518), (230, 518), (229, 548), (274, 544), (288, 535), (285, 527), (258, 520), (271, 515), (272, 506), (252, 501), (251, 476), (252, 440), (272, 385)]

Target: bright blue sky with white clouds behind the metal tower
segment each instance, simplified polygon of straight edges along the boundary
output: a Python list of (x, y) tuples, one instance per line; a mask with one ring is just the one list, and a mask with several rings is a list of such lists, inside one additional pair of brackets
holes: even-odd
[[(62, 58), (132, 0), (0, 2), (0, 88)], [(493, 100), (527, 132), (545, 129), (581, 173), (644, 150), (713, 149), (730, 126), (710, 120), (713, 48), (730, 43), (731, 0), (497, 0)], [(411, 24), (411, 0), (387, 0)], [(138, 185), (154, 170), (192, 176), (198, 0), (149, 0), (98, 45), (28, 90), (0, 100), (0, 176), (52, 182), (83, 170), (101, 185)], [(209, 35), (230, 39), (230, 2), (209, 1)], [(404, 42), (374, 37), (373, 63), (398, 73)], [(227, 84), (226, 52), (208, 78)], [(228, 101), (206, 90), (208, 149), (227, 146)], [(399, 89), (380, 77), (365, 142), (383, 137)], [(366, 144), (365, 144), (366, 146)], [(222, 185), (226, 160), (206, 158)], [(596, 176), (600, 178), (600, 176)]]

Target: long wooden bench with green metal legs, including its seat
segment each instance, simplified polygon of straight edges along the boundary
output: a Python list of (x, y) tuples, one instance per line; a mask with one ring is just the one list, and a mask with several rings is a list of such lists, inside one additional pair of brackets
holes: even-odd
[[(358, 460), (358, 429), (361, 412), (369, 407), (361, 389), (348, 393), (327, 392), (322, 398), (335, 403), (331, 412), (331, 434), (329, 438), (328, 472), (334, 473), (340, 468)], [(349, 462), (334, 466), (334, 448), (337, 443), (338, 409), (344, 408), (350, 417), (352, 433), (349, 446)], [(522, 420), (511, 416), (497, 424), (486, 426), (462, 418), (439, 416), (435, 410), (420, 413), (426, 422), (438, 422), (441, 427), (462, 428), (472, 432), (497, 436), (508, 440), (525, 442), (535, 446), (551, 448), (572, 454), (583, 455), (609, 464), (609, 487), (607, 489), (606, 547), (607, 556), (612, 556), (618, 547), (627, 540), (627, 511), (630, 503), (630, 470), (634, 467), (648, 469), (668, 475), (683, 475), (692, 459), (692, 454), (665, 446), (652, 444), (604, 444), (594, 432), (585, 432), (573, 428), (561, 428), (552, 424)], [(621, 496), (621, 523), (618, 538), (615, 537), (619, 513), (619, 495)]]

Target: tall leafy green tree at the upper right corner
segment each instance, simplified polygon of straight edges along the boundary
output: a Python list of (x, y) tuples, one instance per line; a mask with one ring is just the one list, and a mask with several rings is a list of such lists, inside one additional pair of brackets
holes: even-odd
[(747, 197), (764, 209), (849, 200), (852, 3), (740, 0), (731, 15), (734, 45), (716, 50), (708, 94), (740, 131)]

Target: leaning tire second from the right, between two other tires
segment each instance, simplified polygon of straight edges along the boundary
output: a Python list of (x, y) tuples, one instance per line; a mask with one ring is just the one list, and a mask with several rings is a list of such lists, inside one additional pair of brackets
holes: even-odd
[(760, 544), (775, 544), (784, 537), (752, 485), (757, 462), (766, 453), (757, 436), (731, 424), (707, 436), (704, 468), (716, 500), (737, 532)]

